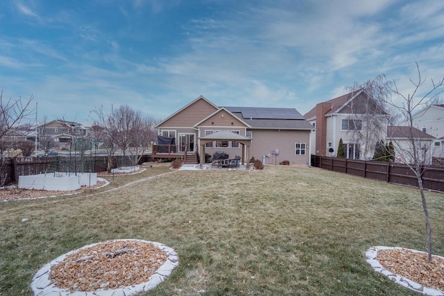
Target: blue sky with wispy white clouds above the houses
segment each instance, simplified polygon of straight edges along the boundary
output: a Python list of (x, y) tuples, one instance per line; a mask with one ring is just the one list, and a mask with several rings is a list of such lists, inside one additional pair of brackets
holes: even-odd
[(4, 0), (3, 98), (87, 123), (128, 104), (164, 119), (216, 105), (305, 114), (379, 74), (411, 91), (444, 76), (444, 1)]

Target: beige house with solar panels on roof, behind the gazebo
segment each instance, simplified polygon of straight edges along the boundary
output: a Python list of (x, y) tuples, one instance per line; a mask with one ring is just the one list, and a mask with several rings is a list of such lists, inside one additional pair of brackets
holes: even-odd
[[(167, 153), (199, 153), (200, 164), (205, 153), (216, 151), (239, 156), (243, 162), (251, 157), (265, 164), (309, 162), (311, 125), (294, 108), (218, 107), (199, 96), (155, 128), (160, 136), (176, 139), (177, 149)], [(153, 157), (165, 157), (164, 153), (153, 147)]]

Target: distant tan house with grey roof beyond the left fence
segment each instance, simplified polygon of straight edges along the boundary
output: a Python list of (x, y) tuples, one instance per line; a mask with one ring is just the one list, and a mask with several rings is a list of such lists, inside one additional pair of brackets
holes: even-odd
[(37, 126), (38, 138), (50, 137), (58, 148), (69, 146), (71, 139), (81, 138), (86, 135), (86, 128), (81, 123), (74, 121), (53, 120)]

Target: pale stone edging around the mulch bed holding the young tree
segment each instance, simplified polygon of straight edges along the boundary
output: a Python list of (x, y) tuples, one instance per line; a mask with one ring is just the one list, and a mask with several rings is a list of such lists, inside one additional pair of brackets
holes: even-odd
[[(405, 249), (401, 247), (384, 247), (381, 245), (378, 245), (376, 247), (370, 247), (370, 249), (366, 252), (366, 261), (369, 263), (373, 270), (376, 272), (382, 273), (382, 275), (385, 275), (388, 277), (388, 279), (391, 279), (391, 281), (394, 281), (396, 284), (409, 288), (410, 290), (413, 290), (415, 292), (421, 293), (422, 295), (431, 295), (431, 296), (444, 296), (444, 291), (436, 290), (434, 288), (428, 288), (426, 286), (422, 286), (421, 284), (416, 283), (415, 281), (411, 281), (410, 279), (407, 279), (407, 277), (402, 277), (400, 275), (396, 275), (395, 273), (386, 270), (384, 266), (377, 261), (377, 252), (379, 250), (393, 250), (393, 249)], [(418, 252), (418, 253), (425, 253), (418, 250), (411, 250), (407, 249), (412, 252)], [(427, 253), (425, 253), (427, 254)], [(436, 256), (436, 255), (434, 255)], [(438, 256), (441, 257), (441, 256)], [(441, 257), (443, 258), (443, 257)]]

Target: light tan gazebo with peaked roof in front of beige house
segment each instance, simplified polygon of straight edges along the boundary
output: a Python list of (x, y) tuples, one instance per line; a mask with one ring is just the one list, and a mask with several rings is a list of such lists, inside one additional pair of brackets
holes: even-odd
[[(214, 132), (212, 134), (207, 134), (206, 136), (200, 137), (200, 162), (199, 168), (203, 168), (205, 163), (205, 144), (211, 143), (212, 141), (237, 141), (242, 145), (242, 164), (245, 164), (244, 160), (250, 157), (250, 144), (251, 139), (248, 137), (241, 136), (229, 130), (220, 130), (219, 132)], [(246, 147), (246, 149), (244, 149)], [(245, 155), (246, 153), (246, 155)], [(250, 168), (250, 162), (247, 161), (246, 168)]]

